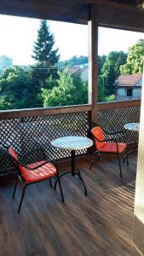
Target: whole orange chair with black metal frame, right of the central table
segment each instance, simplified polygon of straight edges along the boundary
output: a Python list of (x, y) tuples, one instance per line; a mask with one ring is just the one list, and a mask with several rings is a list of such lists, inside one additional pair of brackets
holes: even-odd
[[(105, 134), (107, 132), (105, 131)], [(91, 165), (89, 169), (92, 168), (95, 156), (98, 154), (99, 160), (101, 158), (101, 154), (117, 154), (118, 157), (118, 166), (119, 166), (119, 172), (120, 172), (120, 177), (123, 177), (122, 174), (122, 168), (121, 168), (121, 162), (120, 162), (120, 156), (119, 154), (124, 153), (124, 160), (127, 160), (127, 166), (129, 166), (129, 161), (128, 161), (128, 154), (126, 152), (126, 143), (118, 143), (118, 140), (116, 137), (114, 137), (116, 134), (122, 133), (122, 131), (117, 131), (117, 132), (112, 132), (112, 133), (107, 133), (107, 136), (109, 138), (105, 138), (104, 135), (104, 130), (101, 129), (100, 126), (96, 125), (94, 128), (91, 130), (92, 137), (95, 142), (95, 154), (94, 157), (91, 161)]]

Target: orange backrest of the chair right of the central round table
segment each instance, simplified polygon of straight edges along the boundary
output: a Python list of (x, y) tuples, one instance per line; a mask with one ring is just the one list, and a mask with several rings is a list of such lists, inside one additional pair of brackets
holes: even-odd
[(93, 129), (91, 129), (91, 133), (94, 135), (95, 146), (97, 150), (100, 150), (105, 145), (105, 142), (102, 142), (102, 143), (100, 142), (105, 139), (105, 136), (101, 127), (95, 126)]

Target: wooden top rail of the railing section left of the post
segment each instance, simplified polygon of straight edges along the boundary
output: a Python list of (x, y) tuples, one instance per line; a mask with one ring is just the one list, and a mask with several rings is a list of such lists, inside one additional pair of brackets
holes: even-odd
[(66, 106), (56, 108), (32, 108), (0, 111), (0, 119), (15, 119), (60, 113), (79, 113), (91, 110), (91, 105)]

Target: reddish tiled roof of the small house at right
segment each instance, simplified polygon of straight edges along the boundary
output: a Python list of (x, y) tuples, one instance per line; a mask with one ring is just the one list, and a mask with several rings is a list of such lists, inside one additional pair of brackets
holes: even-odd
[(115, 81), (117, 86), (135, 86), (135, 84), (142, 79), (142, 75), (120, 75)]

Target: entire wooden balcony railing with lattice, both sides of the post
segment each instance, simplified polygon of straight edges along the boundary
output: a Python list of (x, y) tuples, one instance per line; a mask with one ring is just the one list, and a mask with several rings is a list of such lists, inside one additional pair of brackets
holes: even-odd
[[(140, 101), (99, 103), (95, 106), (98, 123), (108, 130), (122, 130), (125, 123), (139, 122)], [(63, 108), (37, 108), (0, 112), (0, 144), (14, 147), (19, 154), (43, 148), (51, 158), (64, 159), (68, 151), (52, 148), (56, 137), (87, 136), (91, 123), (91, 105)], [(126, 142), (135, 143), (138, 135), (126, 131)], [(78, 154), (86, 153), (79, 150)], [(1, 153), (0, 177), (14, 173), (14, 166)]]

